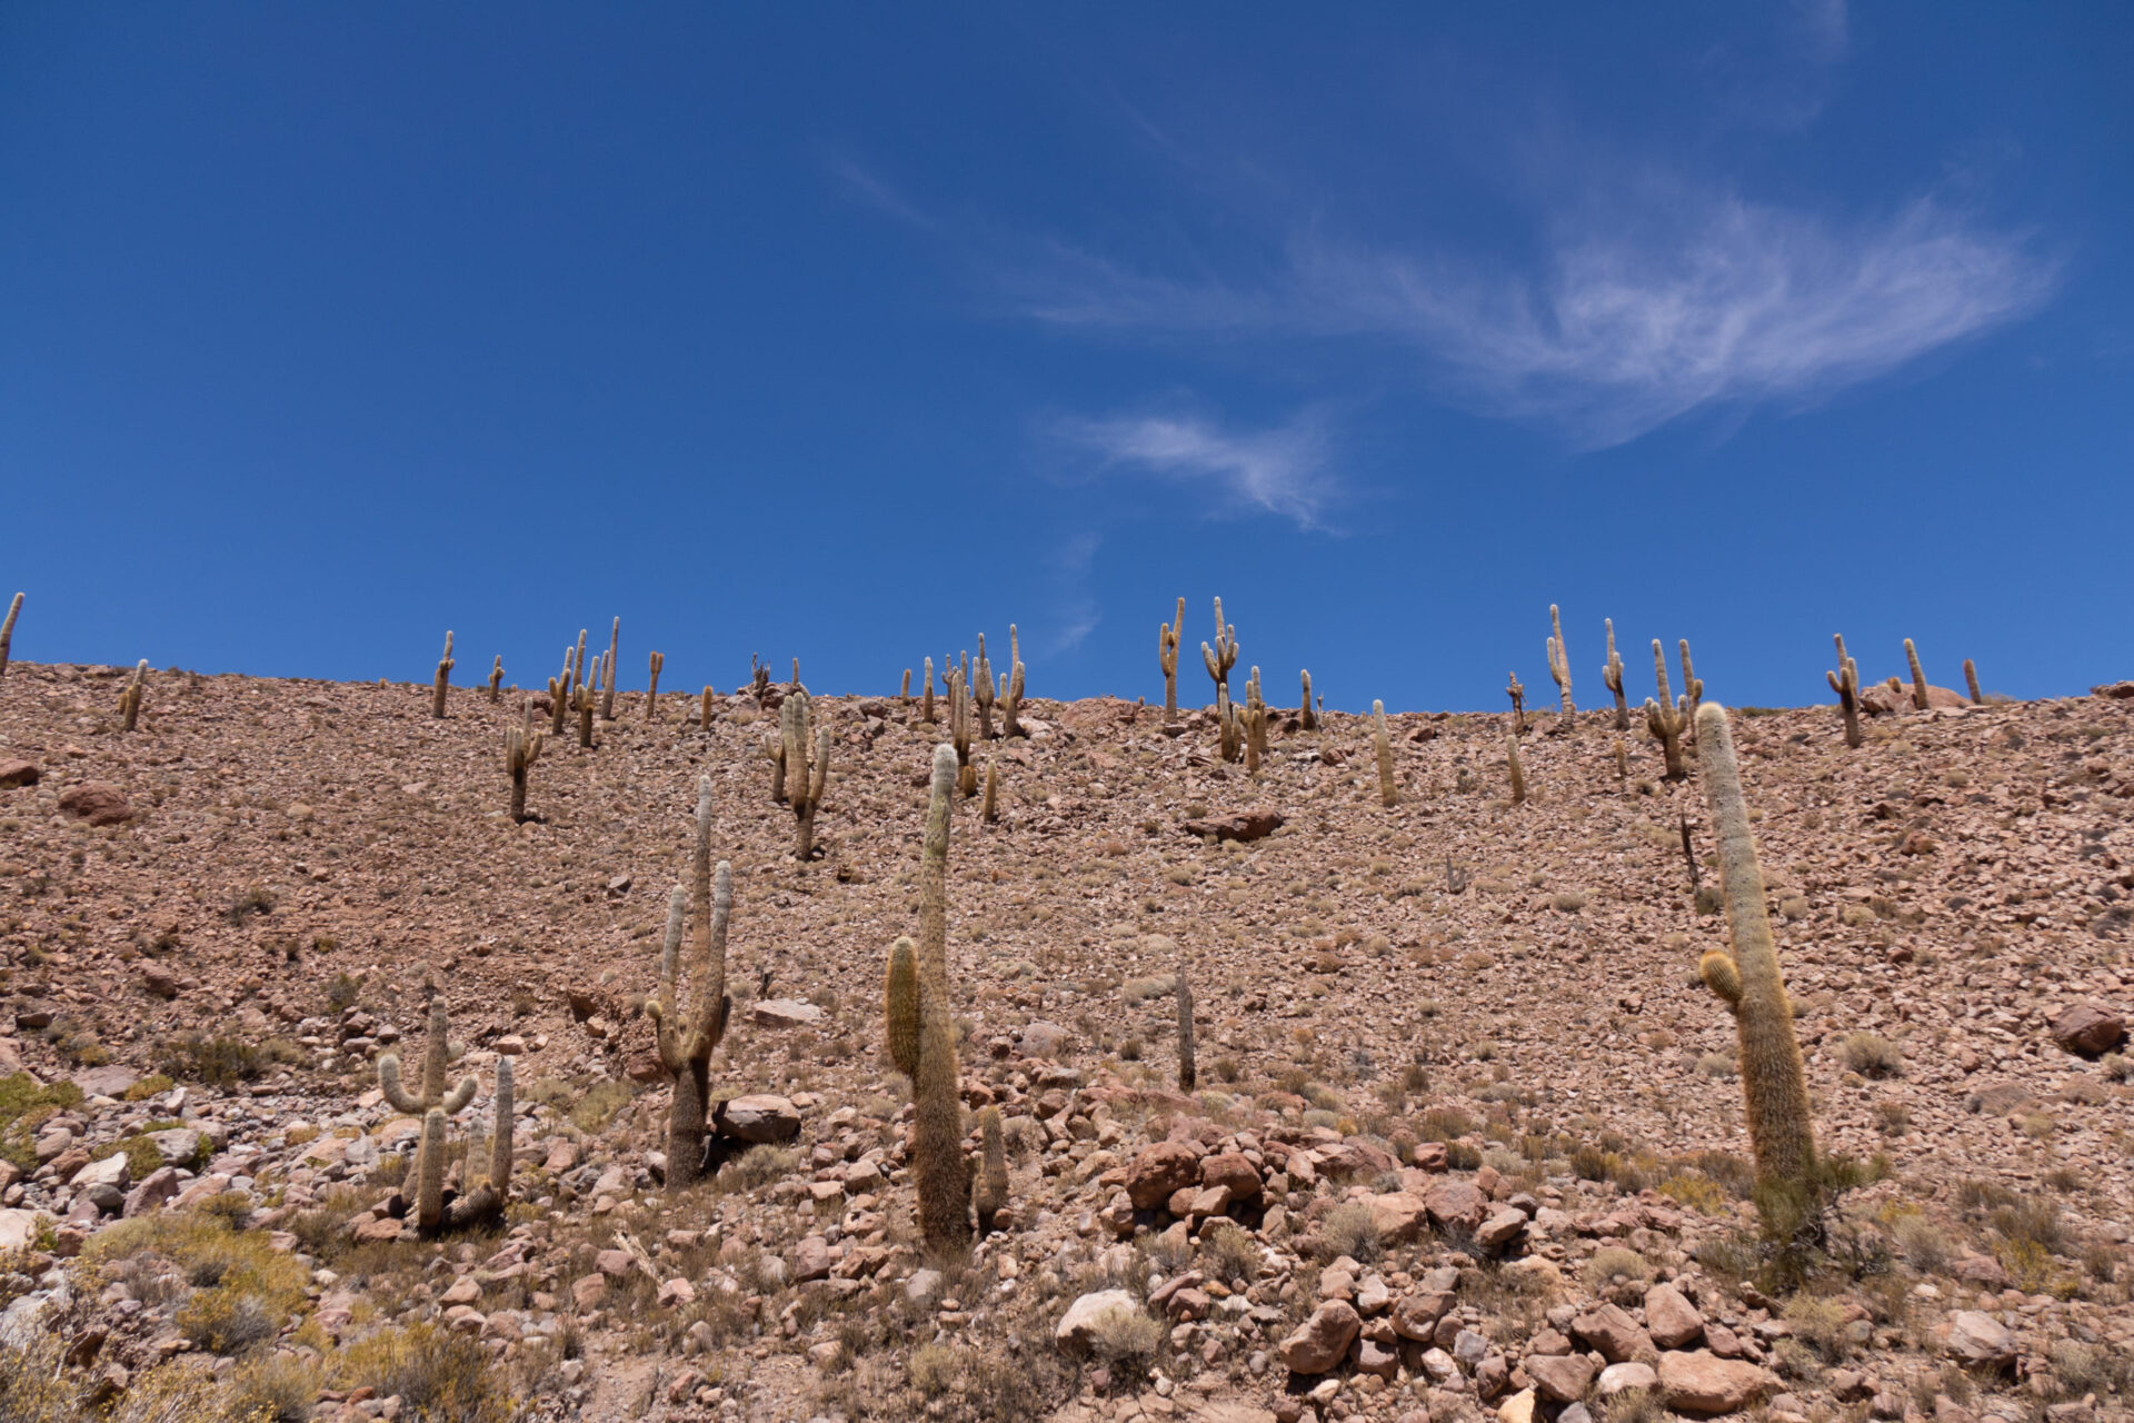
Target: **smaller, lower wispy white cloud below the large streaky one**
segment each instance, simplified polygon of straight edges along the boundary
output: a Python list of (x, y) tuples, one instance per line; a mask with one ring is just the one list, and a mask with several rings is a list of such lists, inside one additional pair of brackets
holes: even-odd
[(1317, 527), (1334, 497), (1332, 452), (1319, 420), (1304, 416), (1261, 431), (1225, 431), (1199, 416), (1071, 420), (1063, 431), (1108, 465), (1169, 480), (1204, 480), (1242, 506)]

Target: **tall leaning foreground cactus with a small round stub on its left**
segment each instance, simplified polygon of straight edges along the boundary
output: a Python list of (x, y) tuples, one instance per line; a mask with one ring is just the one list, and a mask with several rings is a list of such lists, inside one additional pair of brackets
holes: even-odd
[(1720, 851), (1720, 888), (1726, 896), (1726, 943), (1703, 956), (1699, 973), (1735, 1016), (1741, 1039), (1741, 1097), (1756, 1154), (1756, 1208), (1765, 1227), (1782, 1237), (1812, 1225), (1820, 1208), (1816, 1133), (1807, 1116), (1807, 1077), (1793, 1039), (1793, 1005), (1778, 969), (1771, 911), (1756, 868), (1756, 841), (1748, 830), (1741, 766), (1735, 762), (1726, 708), (1705, 702), (1697, 710), (1697, 747), (1703, 757), (1705, 804)]

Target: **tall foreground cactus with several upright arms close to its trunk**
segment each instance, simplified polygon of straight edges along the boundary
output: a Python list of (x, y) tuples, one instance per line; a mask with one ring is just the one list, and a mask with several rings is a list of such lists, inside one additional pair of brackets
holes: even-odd
[(726, 994), (726, 922), (734, 909), (734, 870), (726, 860), (711, 868), (711, 777), (696, 783), (694, 849), (696, 930), (689, 958), (696, 990), (687, 1009), (674, 1001), (681, 975), (683, 892), (668, 896), (666, 943), (659, 949), (659, 992), (644, 1005), (657, 1035), (659, 1065), (674, 1077), (668, 1112), (668, 1190), (694, 1186), (704, 1176), (704, 1116), (711, 1109), (711, 1054), (726, 1037), (734, 1003)]

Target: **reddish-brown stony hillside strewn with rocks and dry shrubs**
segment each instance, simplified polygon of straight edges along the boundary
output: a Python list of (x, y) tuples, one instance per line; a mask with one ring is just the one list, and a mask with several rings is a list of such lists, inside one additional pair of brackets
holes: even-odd
[[(881, 1058), (915, 706), (815, 700), (796, 864), (753, 698), (623, 695), (512, 824), (516, 693), (437, 721), (429, 687), (171, 672), (128, 734), (120, 691), (0, 678), (0, 1374), (60, 1400), (0, 1417), (2128, 1417), (2134, 700), (1895, 710), (1857, 751), (1829, 706), (1735, 717), (1816, 1126), (1859, 1163), (1805, 1254), (1743, 1199), (1709, 832), (1641, 719), (1530, 717), (1513, 804), (1509, 717), (1391, 717), (1387, 809), (1368, 719), (1278, 719), (1248, 777), (1206, 713), (1033, 702), (950, 851), (1014, 1188), (962, 1263), (918, 1250)], [(773, 1141), (668, 1195), (642, 1003), (700, 772), (713, 1090)], [(425, 975), (482, 1084), (455, 1139), (499, 1054), (519, 1082), (508, 1218), (442, 1242), (397, 1216), (416, 1122), (373, 1065)]]

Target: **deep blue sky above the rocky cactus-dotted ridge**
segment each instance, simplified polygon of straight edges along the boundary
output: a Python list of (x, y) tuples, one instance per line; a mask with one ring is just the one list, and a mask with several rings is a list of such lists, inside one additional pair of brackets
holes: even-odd
[(15, 653), (2134, 672), (2134, 15), (1443, 11), (4, 6)]

